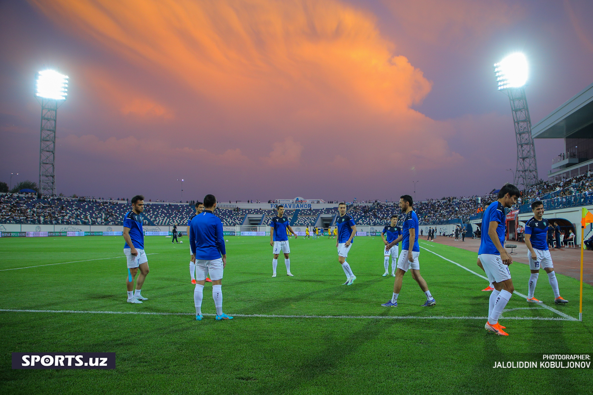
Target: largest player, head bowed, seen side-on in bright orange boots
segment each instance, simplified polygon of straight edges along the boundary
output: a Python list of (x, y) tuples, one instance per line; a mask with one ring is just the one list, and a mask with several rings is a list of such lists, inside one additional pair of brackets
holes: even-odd
[(508, 336), (509, 334), (503, 330), (505, 327), (498, 323), (498, 319), (506, 303), (511, 299), (513, 291), (515, 291), (511, 280), (511, 272), (509, 271), (509, 265), (513, 263), (513, 260), (504, 249), (505, 210), (517, 203), (520, 194), (521, 192), (515, 185), (505, 184), (498, 191), (498, 200), (490, 203), (484, 210), (482, 226), (480, 226), (482, 238), (480, 239), (478, 258), (482, 262), (488, 280), (494, 285), (494, 290), (490, 294), (488, 320), (484, 328), (502, 336)]

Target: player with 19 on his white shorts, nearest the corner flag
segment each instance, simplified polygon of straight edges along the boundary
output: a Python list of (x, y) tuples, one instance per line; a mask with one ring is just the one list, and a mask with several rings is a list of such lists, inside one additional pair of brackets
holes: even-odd
[(554, 265), (548, 249), (548, 220), (543, 218), (544, 204), (540, 200), (531, 203), (533, 217), (525, 224), (525, 245), (527, 245), (527, 258), (529, 259), (529, 268), (531, 275), (527, 291), (527, 301), (531, 303), (542, 303), (534, 297), (535, 285), (540, 275), (540, 268), (543, 268), (548, 274), (550, 287), (554, 292), (554, 303), (565, 304), (568, 300), (560, 296), (558, 290), (558, 280), (554, 273)]

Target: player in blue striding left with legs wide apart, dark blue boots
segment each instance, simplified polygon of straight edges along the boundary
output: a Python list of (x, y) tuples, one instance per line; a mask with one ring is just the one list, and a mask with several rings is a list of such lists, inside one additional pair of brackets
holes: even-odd
[(420, 289), (426, 295), (426, 301), (422, 307), (435, 306), (436, 300), (432, 297), (431, 291), (428, 290), (426, 281), (420, 275), (420, 263), (418, 256), (420, 255), (420, 245), (418, 244), (418, 216), (413, 208), (413, 200), (410, 195), (403, 195), (400, 197), (400, 208), (404, 216), (403, 224), (401, 226), (401, 235), (393, 242), (385, 246), (385, 251), (391, 249), (394, 245), (401, 242), (401, 254), (397, 261), (396, 280), (393, 282), (393, 295), (387, 303), (381, 304), (384, 307), (396, 307), (397, 297), (400, 295), (401, 283), (404, 274), (412, 269), (412, 278), (416, 280)]

